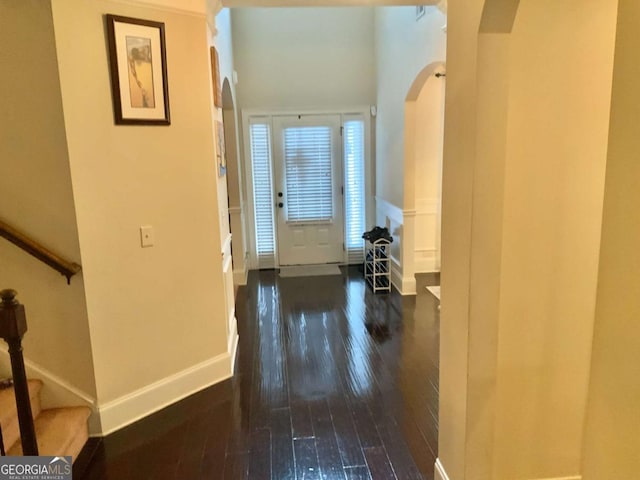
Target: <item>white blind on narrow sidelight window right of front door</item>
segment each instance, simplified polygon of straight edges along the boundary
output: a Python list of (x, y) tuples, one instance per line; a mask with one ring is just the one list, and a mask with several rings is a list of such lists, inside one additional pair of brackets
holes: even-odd
[(365, 159), (364, 121), (361, 118), (345, 118), (344, 176), (345, 176), (345, 246), (348, 262), (364, 260), (365, 231)]

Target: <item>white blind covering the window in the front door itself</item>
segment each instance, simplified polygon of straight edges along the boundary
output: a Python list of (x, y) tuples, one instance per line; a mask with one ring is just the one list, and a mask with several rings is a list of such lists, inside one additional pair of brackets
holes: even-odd
[(286, 128), (284, 160), (287, 221), (331, 221), (331, 127)]

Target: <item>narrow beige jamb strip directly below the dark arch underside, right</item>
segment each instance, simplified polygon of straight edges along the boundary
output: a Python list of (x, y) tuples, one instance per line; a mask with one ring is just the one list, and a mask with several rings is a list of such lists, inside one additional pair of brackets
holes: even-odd
[(493, 469), (496, 419), (498, 324), (509, 95), (509, 37), (478, 38), (476, 162), (469, 292), (466, 470), (489, 479)]

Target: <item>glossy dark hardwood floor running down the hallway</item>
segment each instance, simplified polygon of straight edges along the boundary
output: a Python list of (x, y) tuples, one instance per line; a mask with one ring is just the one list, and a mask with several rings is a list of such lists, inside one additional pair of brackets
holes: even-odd
[(104, 439), (74, 478), (433, 479), (438, 301), (342, 276), (251, 272), (233, 379)]

